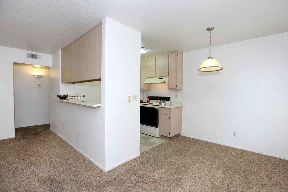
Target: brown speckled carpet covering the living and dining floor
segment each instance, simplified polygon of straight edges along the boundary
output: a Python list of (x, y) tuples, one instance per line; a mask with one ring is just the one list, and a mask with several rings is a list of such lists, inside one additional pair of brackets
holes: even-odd
[(103, 172), (50, 131), (0, 140), (0, 191), (288, 191), (288, 161), (178, 136)]

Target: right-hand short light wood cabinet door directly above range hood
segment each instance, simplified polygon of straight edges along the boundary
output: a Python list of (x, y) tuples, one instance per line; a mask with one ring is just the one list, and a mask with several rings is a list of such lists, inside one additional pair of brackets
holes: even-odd
[(155, 62), (155, 77), (168, 76), (169, 54), (157, 55)]

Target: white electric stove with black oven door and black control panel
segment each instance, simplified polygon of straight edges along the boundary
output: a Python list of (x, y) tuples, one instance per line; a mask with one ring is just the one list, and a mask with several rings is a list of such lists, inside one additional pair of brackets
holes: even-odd
[(159, 102), (170, 104), (170, 97), (150, 96), (149, 103), (140, 103), (140, 133), (160, 137), (159, 135)]

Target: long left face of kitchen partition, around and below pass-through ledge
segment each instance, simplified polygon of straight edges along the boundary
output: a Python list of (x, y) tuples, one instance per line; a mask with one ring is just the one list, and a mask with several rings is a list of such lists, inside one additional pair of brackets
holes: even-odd
[[(50, 85), (54, 98), (57, 98), (57, 94), (67, 92), (65, 90), (67, 84), (60, 83), (61, 50), (52, 55), (52, 60)], [(75, 88), (77, 87), (79, 88), (79, 85)], [(86, 88), (87, 90), (82, 89), (85, 93), (93, 89), (92, 87)], [(103, 88), (105, 86), (102, 86)], [(98, 87), (94, 89), (98, 90)], [(100, 90), (100, 94), (101, 92), (104, 91)], [(50, 100), (51, 130), (105, 171), (105, 108), (62, 103), (54, 101), (54, 98)], [(105, 100), (102, 100), (102, 104), (105, 104), (104, 102)], [(80, 134), (79, 139), (77, 133)]]

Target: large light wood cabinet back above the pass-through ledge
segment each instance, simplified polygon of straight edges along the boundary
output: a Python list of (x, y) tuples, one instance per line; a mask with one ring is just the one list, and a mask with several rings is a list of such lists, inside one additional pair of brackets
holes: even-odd
[(61, 83), (101, 79), (102, 24), (61, 51)]

